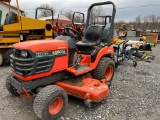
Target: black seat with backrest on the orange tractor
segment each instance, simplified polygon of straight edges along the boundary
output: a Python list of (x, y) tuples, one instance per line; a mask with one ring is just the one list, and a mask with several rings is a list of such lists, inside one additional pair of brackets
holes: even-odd
[(102, 40), (102, 26), (91, 25), (87, 28), (85, 32), (84, 41), (79, 41), (76, 43), (78, 47), (93, 47), (100, 44)]

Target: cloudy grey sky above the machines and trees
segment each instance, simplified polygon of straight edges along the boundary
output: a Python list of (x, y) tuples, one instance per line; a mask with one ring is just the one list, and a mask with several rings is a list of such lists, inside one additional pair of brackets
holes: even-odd
[[(56, 10), (73, 10), (75, 12), (87, 13), (88, 7), (96, 2), (106, 0), (19, 0), (20, 9), (27, 13), (27, 16), (34, 17), (35, 9), (41, 4), (48, 4)], [(155, 14), (160, 16), (160, 0), (111, 0), (116, 5), (115, 21), (124, 20), (126, 22), (134, 21), (138, 15), (146, 16)], [(15, 6), (15, 0), (11, 5)], [(110, 11), (110, 7), (104, 7), (105, 12)], [(108, 13), (107, 13), (108, 15)]]

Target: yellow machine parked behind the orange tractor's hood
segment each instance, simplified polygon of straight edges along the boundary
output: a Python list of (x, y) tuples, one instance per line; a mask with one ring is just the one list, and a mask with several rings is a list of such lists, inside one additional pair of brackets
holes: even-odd
[[(26, 40), (52, 39), (52, 25), (49, 21), (21, 16), (18, 0), (16, 0), (17, 13), (11, 11), (11, 0), (0, 1), (7, 3), (9, 8), (4, 25), (0, 26), (0, 65), (2, 62), (9, 63), (14, 43)], [(51, 12), (53, 18), (53, 11), (51, 10)]]

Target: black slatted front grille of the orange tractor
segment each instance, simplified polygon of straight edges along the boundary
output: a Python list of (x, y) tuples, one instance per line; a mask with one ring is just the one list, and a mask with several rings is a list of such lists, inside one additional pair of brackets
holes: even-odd
[(16, 50), (11, 55), (12, 70), (22, 76), (34, 75), (42, 72), (49, 71), (54, 63), (53, 57), (35, 58), (34, 53), (27, 51), (29, 55), (27, 58), (22, 58), (20, 50)]

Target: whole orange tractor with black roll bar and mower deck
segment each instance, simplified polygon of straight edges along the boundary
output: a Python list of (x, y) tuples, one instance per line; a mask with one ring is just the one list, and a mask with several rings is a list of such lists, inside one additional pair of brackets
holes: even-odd
[[(90, 11), (100, 5), (113, 6), (109, 29), (89, 25)], [(111, 46), (115, 13), (113, 2), (92, 4), (87, 13), (84, 41), (75, 43), (72, 36), (58, 36), (52, 41), (14, 44), (13, 73), (6, 79), (7, 90), (27, 98), (36, 96), (34, 112), (45, 120), (56, 119), (63, 113), (68, 103), (67, 94), (83, 99), (88, 106), (103, 100), (109, 93), (108, 84), (115, 71)], [(104, 32), (107, 35), (103, 36)]]

